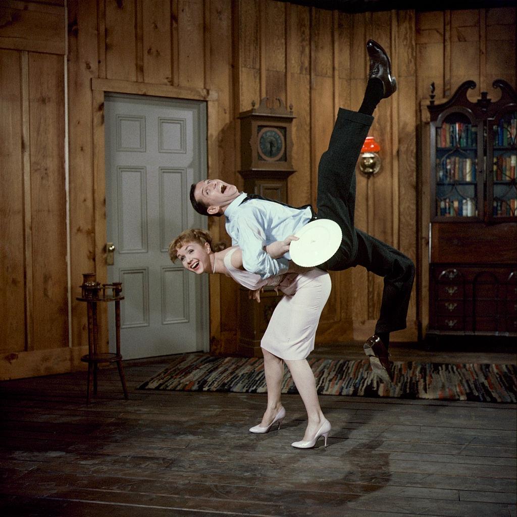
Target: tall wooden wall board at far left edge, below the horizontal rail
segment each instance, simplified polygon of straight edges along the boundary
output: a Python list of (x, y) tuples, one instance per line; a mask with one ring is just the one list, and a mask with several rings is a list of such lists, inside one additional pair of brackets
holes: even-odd
[[(21, 52), (0, 50), (0, 351), (25, 349), (24, 163)], [(26, 54), (26, 53), (25, 53)], [(23, 142), (23, 143), (22, 143)], [(9, 195), (6, 195), (6, 193)]]

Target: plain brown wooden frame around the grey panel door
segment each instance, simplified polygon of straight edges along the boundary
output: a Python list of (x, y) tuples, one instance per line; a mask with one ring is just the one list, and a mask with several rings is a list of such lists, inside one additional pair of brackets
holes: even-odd
[[(218, 146), (217, 146), (217, 92), (206, 88), (181, 88), (165, 84), (144, 84), (132, 81), (92, 78), (93, 103), (93, 184), (94, 184), (94, 228), (95, 228), (95, 273), (97, 281), (108, 282), (108, 267), (106, 265), (107, 219), (106, 219), (106, 169), (105, 169), (105, 131), (104, 131), (104, 95), (105, 93), (133, 94), (168, 99), (197, 100), (206, 102), (207, 124), (207, 175), (209, 178), (218, 177)], [(210, 218), (211, 219), (211, 218)], [(218, 238), (219, 228), (216, 224), (208, 224), (208, 230), (214, 238)], [(209, 278), (209, 343), (220, 336), (220, 308), (216, 300), (220, 293), (219, 275)], [(109, 329), (108, 307), (101, 303), (99, 317), (99, 352), (108, 352)], [(209, 352), (209, 344), (205, 344), (205, 352)]]

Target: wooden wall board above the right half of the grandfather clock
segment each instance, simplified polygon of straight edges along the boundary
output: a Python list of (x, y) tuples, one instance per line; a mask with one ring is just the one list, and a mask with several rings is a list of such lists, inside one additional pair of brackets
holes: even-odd
[(266, 57), (266, 96), (286, 102), (285, 86), (285, 8), (281, 2), (265, 2), (264, 47)]

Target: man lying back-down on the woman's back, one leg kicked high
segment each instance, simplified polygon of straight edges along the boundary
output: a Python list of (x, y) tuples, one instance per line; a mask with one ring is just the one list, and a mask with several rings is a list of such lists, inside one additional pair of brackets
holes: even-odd
[(376, 105), (397, 89), (389, 57), (381, 45), (368, 40), (367, 50), (370, 71), (361, 107), (357, 112), (339, 109), (329, 147), (318, 166), (317, 215), (309, 205), (293, 208), (257, 199), (260, 196), (248, 196), (220, 179), (206, 179), (192, 185), (190, 201), (200, 214), (224, 214), (226, 231), (232, 237), (232, 244), (241, 248), (244, 267), (262, 278), (286, 271), (290, 260), (288, 253), (279, 259), (271, 258), (264, 246), (296, 233), (313, 219), (336, 221), (341, 227), (341, 245), (318, 267), (340, 271), (360, 265), (384, 277), (381, 313), (375, 334), (364, 344), (364, 352), (370, 357), (372, 369), (389, 382), (389, 334), (406, 327), (415, 265), (400, 251), (354, 226), (357, 159)]

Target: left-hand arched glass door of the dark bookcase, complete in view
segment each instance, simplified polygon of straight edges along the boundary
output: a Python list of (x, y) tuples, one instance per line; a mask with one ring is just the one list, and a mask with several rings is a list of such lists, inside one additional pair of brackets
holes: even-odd
[(437, 125), (435, 218), (478, 218), (478, 126), (463, 113)]

